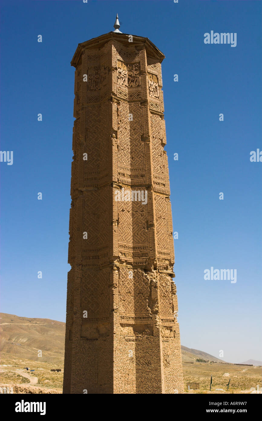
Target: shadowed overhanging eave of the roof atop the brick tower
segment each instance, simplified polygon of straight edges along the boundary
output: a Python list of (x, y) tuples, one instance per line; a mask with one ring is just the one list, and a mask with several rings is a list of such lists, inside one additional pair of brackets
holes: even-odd
[(84, 50), (102, 48), (103, 45), (108, 43), (110, 40), (116, 40), (119, 43), (122, 43), (123, 45), (129, 46), (129, 47), (130, 45), (141, 46), (141, 44), (144, 44), (149, 56), (159, 59), (160, 63), (164, 60), (165, 58), (164, 54), (148, 38), (132, 35), (133, 41), (132, 43), (130, 43), (129, 37), (130, 37), (130, 34), (122, 34), (122, 33), (111, 31), (111, 32), (108, 32), (107, 34), (100, 35), (99, 37), (92, 38), (91, 40), (78, 44), (76, 52), (74, 53), (74, 57), (72, 58), (72, 61), (71, 61), (71, 66), (77, 67), (79, 58)]

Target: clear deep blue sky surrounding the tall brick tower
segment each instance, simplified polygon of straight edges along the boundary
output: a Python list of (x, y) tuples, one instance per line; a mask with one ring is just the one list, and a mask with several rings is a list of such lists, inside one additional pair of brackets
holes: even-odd
[[(249, 160), (262, 150), (261, 2), (0, 3), (1, 150), (13, 151), (13, 165), (0, 163), (1, 311), (65, 321), (70, 61), (78, 43), (114, 30), (118, 13), (122, 32), (148, 37), (166, 56), (181, 343), (216, 357), (222, 349), (225, 361), (261, 360), (262, 163)], [(211, 30), (236, 32), (237, 46), (204, 44)], [(204, 280), (211, 266), (237, 269), (237, 282)]]

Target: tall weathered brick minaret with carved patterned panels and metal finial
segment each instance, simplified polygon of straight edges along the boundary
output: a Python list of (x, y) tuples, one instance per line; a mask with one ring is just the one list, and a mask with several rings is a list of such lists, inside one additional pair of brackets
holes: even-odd
[(181, 393), (164, 54), (114, 27), (71, 61), (64, 393)]

